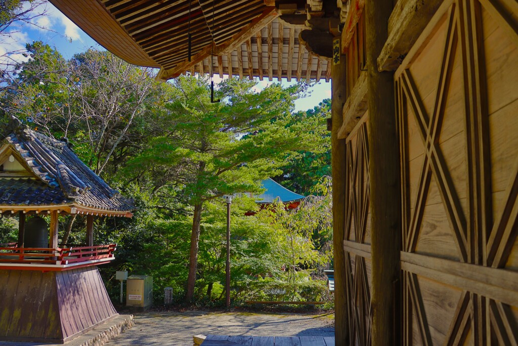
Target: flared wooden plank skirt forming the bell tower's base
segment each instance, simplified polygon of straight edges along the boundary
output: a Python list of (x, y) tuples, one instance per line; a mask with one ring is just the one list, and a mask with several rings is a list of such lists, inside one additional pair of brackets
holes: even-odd
[(118, 313), (97, 267), (0, 270), (0, 340), (64, 343)]

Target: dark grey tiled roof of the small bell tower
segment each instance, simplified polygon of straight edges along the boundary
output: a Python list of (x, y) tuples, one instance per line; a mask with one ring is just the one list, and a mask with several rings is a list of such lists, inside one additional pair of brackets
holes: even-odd
[(74, 203), (114, 212), (135, 209), (133, 201), (120, 196), (74, 154), (66, 139), (32, 131), (18, 119), (10, 121), (8, 132), (2, 144), (9, 144), (37, 178), (0, 178), (0, 206)]

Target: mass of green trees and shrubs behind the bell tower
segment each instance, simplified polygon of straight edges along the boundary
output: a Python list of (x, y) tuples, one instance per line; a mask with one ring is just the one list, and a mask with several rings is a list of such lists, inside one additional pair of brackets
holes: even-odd
[[(27, 52), (29, 59), (0, 91), (2, 123), (16, 116), (36, 131), (67, 137), (94, 172), (139, 207), (130, 220), (96, 219), (95, 242), (120, 244), (112, 267), (102, 269), (105, 278), (114, 268), (152, 273), (158, 288), (176, 287), (187, 301), (218, 300), (224, 195), (235, 196), (236, 299), (257, 294), (266, 283), (295, 287), (302, 273), (322, 274), (332, 248), (330, 214), (319, 219), (308, 210), (329, 203), (329, 187), (313, 189), (325, 186), (319, 181), (329, 167), (329, 103), (294, 112), (305, 84), (274, 83), (257, 91), (256, 81), (228, 78), (215, 87), (221, 102), (211, 102), (202, 76), (164, 83), (106, 51), (90, 49), (67, 60), (35, 42)], [(325, 198), (314, 197), (296, 212), (274, 205), (244, 216), (258, 211), (251, 196), (261, 192), (262, 179), (275, 176)], [(82, 218), (68, 216), (61, 224), (63, 242), (83, 241)], [(9, 229), (0, 223), (3, 239), (12, 237)]]

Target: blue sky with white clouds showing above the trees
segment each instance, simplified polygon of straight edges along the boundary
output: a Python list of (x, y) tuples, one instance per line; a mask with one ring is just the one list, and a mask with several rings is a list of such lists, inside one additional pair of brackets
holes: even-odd
[[(40, 40), (52, 47), (55, 47), (65, 58), (72, 57), (75, 53), (79, 53), (89, 49), (104, 49), (98, 45), (90, 36), (85, 34), (78, 26), (65, 17), (54, 6), (47, 3), (40, 6), (38, 12), (45, 12), (45, 16), (37, 17), (33, 20), (34, 25), (20, 24), (10, 29), (10, 37), (0, 42), (0, 56), (6, 52), (13, 52), (25, 47), (26, 43)], [(22, 61), (25, 58), (21, 54), (12, 54), (12, 59)], [(217, 81), (219, 78), (214, 78)], [(277, 80), (274, 80), (277, 82)], [(259, 81), (257, 90), (268, 85), (267, 80)], [(282, 84), (287, 86), (292, 84), (285, 79)], [(317, 84), (308, 89), (305, 98), (296, 101), (296, 110), (306, 110), (318, 105), (323, 99), (331, 97), (331, 84), (325, 80), (319, 81)]]

